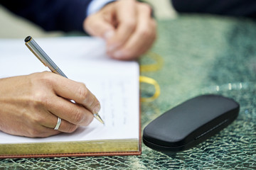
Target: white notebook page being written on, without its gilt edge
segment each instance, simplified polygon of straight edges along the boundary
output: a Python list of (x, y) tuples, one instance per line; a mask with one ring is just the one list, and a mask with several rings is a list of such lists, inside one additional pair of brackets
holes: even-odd
[[(101, 103), (105, 125), (93, 120), (71, 134), (30, 138), (0, 132), (0, 144), (107, 139), (139, 139), (139, 65), (112, 60), (98, 38), (35, 39), (69, 79), (86, 84)], [(43, 72), (24, 40), (0, 39), (0, 78)]]

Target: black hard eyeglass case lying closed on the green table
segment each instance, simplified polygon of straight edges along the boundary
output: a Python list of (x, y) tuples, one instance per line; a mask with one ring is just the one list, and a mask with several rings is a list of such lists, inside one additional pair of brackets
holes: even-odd
[(191, 98), (160, 115), (143, 131), (143, 142), (161, 152), (179, 152), (198, 145), (238, 117), (231, 98), (207, 94)]

